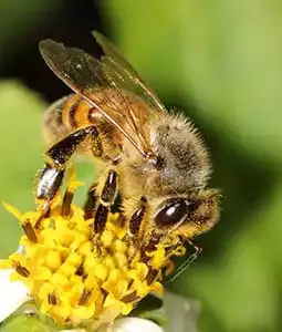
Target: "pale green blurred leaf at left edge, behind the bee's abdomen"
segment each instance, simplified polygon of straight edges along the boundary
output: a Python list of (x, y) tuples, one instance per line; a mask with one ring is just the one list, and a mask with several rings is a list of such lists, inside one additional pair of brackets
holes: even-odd
[[(0, 83), (0, 199), (25, 211), (34, 207), (34, 176), (42, 167), (41, 113), (45, 104), (14, 82)], [(2, 206), (0, 218), (0, 257), (6, 257), (18, 246), (20, 227)]]

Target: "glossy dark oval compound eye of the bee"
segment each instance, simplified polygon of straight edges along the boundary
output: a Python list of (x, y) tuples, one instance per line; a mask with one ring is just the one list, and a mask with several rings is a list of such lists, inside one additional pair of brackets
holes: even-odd
[(156, 225), (159, 227), (174, 226), (184, 220), (188, 214), (189, 201), (175, 199), (168, 201), (156, 215)]

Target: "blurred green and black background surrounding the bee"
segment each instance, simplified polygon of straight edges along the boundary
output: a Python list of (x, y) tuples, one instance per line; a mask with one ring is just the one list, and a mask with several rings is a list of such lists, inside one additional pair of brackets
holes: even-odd
[[(34, 206), (41, 114), (69, 92), (38, 42), (51, 37), (95, 53), (94, 29), (210, 148), (222, 217), (196, 239), (203, 253), (171, 288), (200, 301), (199, 331), (282, 331), (282, 2), (1, 0), (0, 198), (21, 210)], [(6, 257), (21, 230), (3, 208), (0, 217)]]

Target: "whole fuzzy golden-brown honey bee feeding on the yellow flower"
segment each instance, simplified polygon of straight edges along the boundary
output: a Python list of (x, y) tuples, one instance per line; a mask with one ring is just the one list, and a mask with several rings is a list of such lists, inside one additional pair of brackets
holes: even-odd
[(189, 241), (219, 218), (219, 191), (207, 188), (211, 167), (202, 139), (189, 120), (166, 110), (104, 35), (93, 34), (104, 51), (101, 59), (49, 39), (40, 42), (44, 61), (74, 94), (44, 115), (51, 147), (36, 199), (48, 206), (72, 157), (91, 155), (103, 164), (84, 207), (95, 234), (103, 232), (121, 194), (134, 242), (149, 250), (171, 237)]

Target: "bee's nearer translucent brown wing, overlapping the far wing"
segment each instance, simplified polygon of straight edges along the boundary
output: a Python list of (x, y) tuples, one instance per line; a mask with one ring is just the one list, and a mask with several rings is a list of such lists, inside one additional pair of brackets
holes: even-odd
[[(123, 64), (112, 58), (104, 56), (100, 61), (80, 49), (65, 48), (52, 40), (40, 42), (39, 48), (46, 64), (62, 81), (93, 104), (144, 157), (150, 155), (152, 147), (142, 124), (146, 122), (146, 118), (165, 108), (152, 110), (153, 104), (136, 91), (139, 87), (136, 82), (140, 82), (138, 76), (133, 75)], [(106, 87), (113, 89), (118, 97), (105, 94), (102, 100), (101, 96), (93, 93), (95, 90), (101, 91)], [(140, 90), (145, 92), (146, 87)], [(140, 110), (134, 106), (128, 98), (128, 93), (140, 96), (148, 105), (145, 113), (152, 114), (142, 114)], [(129, 132), (126, 129), (125, 123), (129, 126)]]

